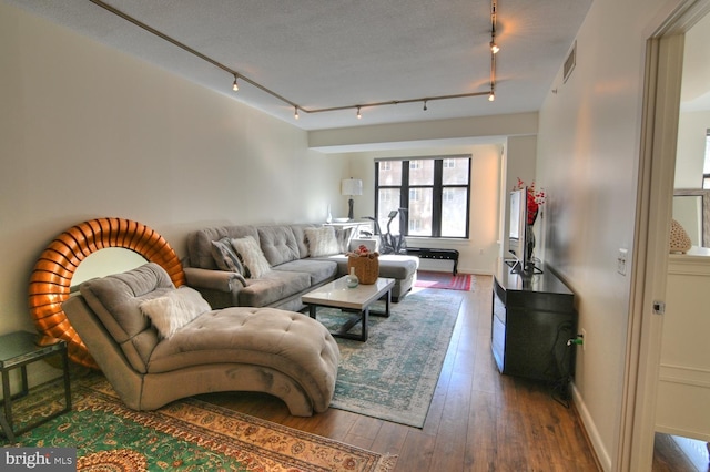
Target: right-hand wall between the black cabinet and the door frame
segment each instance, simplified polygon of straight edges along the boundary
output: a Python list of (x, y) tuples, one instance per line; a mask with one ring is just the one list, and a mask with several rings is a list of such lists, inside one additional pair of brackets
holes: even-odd
[[(621, 429), (646, 40), (678, 3), (596, 0), (540, 111), (537, 175), (548, 194), (546, 258), (576, 293), (586, 349), (577, 349), (576, 400), (605, 470)], [(629, 266), (630, 267), (630, 266)]]

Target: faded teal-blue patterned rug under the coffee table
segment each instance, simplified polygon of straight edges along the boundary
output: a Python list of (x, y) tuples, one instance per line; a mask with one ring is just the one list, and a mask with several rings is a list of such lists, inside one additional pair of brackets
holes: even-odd
[[(377, 304), (373, 309), (384, 307)], [(416, 291), (392, 304), (389, 318), (369, 317), (367, 341), (336, 338), (341, 365), (331, 407), (424, 427), (460, 304), (456, 291)], [(346, 316), (320, 308), (317, 319), (336, 330)]]

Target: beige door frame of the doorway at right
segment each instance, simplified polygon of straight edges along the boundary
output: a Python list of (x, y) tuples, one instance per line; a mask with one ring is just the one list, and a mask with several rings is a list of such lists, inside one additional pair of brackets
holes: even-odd
[(688, 0), (648, 41), (629, 329), (619, 454), (615, 470), (651, 470), (666, 297), (684, 33), (710, 11)]

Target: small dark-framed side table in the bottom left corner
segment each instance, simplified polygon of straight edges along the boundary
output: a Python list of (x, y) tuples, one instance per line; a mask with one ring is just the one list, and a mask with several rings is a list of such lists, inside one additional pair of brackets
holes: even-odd
[[(29, 392), (27, 380), (27, 365), (52, 356), (61, 356), (64, 377), (64, 408), (44, 417), (34, 423), (28, 424), (17, 431), (12, 429), (12, 400), (24, 397)], [(12, 396), (10, 392), (10, 371), (20, 368), (22, 377), (22, 390)], [(22, 434), (53, 418), (71, 410), (71, 388), (69, 384), (69, 356), (67, 355), (67, 341), (42, 337), (34, 332), (16, 331), (0, 336), (0, 370), (2, 371), (2, 402), (4, 415), (0, 414), (0, 427), (4, 435), (14, 442), (16, 435)]]

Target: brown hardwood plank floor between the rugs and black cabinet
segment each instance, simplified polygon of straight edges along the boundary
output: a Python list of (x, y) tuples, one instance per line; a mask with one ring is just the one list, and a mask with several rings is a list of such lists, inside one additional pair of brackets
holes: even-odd
[(600, 470), (574, 407), (556, 401), (546, 386), (498, 373), (490, 352), (491, 278), (477, 276), (475, 291), (457, 294), (464, 301), (423, 429), (337, 409), (291, 417), (280, 400), (258, 393), (202, 398), (396, 454), (400, 472)]

